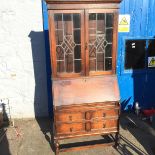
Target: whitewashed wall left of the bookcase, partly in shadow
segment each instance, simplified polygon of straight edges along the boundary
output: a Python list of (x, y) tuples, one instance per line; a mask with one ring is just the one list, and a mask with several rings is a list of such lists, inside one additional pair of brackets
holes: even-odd
[(41, 0), (1, 0), (0, 101), (29, 118), (47, 116), (47, 100)]

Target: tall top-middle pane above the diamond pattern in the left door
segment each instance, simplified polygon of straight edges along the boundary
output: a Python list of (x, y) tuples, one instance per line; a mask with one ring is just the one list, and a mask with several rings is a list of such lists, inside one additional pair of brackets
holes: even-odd
[(71, 35), (73, 27), (71, 14), (63, 14), (63, 21), (64, 21), (64, 33), (66, 35)]

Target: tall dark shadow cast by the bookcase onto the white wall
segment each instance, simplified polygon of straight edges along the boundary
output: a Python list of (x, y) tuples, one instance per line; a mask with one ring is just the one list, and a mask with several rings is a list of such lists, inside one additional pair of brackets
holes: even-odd
[[(53, 120), (52, 120), (52, 93), (51, 93), (51, 68), (50, 68), (50, 51), (49, 43), (45, 42), (44, 35), (46, 32), (31, 31), (29, 38), (31, 39), (31, 49), (35, 76), (35, 95), (34, 110), (36, 121), (40, 130), (44, 134), (45, 139), (49, 143), (52, 150), (53, 145)], [(48, 38), (48, 36), (47, 36)], [(50, 114), (50, 117), (46, 117)], [(50, 135), (49, 135), (50, 133)]]

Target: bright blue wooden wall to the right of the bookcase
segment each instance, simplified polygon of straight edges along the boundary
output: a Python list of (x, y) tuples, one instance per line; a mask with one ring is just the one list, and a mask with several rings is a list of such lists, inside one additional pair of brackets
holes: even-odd
[(122, 0), (120, 14), (131, 18), (130, 32), (119, 33), (118, 37), (117, 75), (122, 109), (132, 109), (135, 102), (141, 108), (155, 108), (155, 69), (124, 69), (125, 40), (155, 38), (155, 0)]

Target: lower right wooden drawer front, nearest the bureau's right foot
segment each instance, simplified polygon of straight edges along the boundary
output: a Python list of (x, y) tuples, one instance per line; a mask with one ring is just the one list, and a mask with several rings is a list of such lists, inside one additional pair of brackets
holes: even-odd
[(99, 122), (93, 122), (91, 124), (91, 129), (106, 129), (117, 127), (118, 120), (105, 120)]

